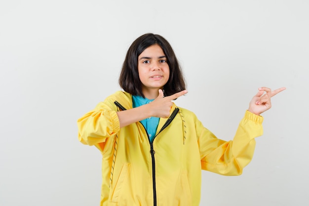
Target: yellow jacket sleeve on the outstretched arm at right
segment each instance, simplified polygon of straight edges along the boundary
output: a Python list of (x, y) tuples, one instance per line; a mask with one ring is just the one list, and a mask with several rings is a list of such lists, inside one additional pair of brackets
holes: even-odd
[(263, 134), (262, 122), (263, 117), (246, 111), (232, 141), (220, 140), (202, 125), (196, 125), (202, 128), (196, 127), (202, 169), (222, 175), (240, 175), (253, 158), (254, 138)]

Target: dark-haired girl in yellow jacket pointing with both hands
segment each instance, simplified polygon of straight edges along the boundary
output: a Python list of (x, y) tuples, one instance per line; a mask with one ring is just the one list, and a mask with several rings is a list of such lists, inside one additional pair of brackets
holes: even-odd
[(103, 156), (100, 206), (198, 206), (201, 169), (240, 175), (263, 132), (260, 114), (285, 89), (259, 88), (233, 140), (224, 141), (172, 102), (187, 90), (163, 37), (145, 34), (132, 43), (119, 84), (124, 91), (77, 121), (79, 141)]

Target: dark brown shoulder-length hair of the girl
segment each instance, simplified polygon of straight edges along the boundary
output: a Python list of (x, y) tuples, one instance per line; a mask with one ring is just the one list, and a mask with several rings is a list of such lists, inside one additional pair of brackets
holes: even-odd
[(181, 67), (169, 42), (160, 35), (148, 33), (133, 41), (126, 53), (119, 76), (119, 85), (124, 91), (132, 95), (145, 97), (138, 74), (138, 56), (146, 48), (154, 44), (158, 44), (162, 48), (170, 71), (168, 82), (164, 85), (164, 95), (170, 96), (186, 89)]

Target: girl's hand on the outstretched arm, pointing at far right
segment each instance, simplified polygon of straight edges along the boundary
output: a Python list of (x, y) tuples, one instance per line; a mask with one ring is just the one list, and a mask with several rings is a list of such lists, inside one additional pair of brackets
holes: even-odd
[[(284, 89), (285, 87), (281, 87), (271, 91), (271, 89), (267, 87), (259, 88), (259, 92), (252, 98), (252, 100), (249, 103), (248, 111), (256, 115), (261, 115), (263, 112), (270, 109), (271, 107), (270, 98), (276, 95), (277, 93), (283, 91)], [(264, 94), (264, 92), (266, 93)]]

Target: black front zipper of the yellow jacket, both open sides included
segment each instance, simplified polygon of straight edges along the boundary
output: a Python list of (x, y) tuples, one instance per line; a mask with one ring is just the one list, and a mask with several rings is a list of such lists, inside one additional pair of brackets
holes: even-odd
[[(116, 104), (117, 107), (119, 107), (122, 111), (126, 110), (119, 102), (115, 101), (114, 102)], [(163, 124), (162, 128), (160, 129), (160, 131), (154, 136), (154, 138), (161, 132), (163, 131), (163, 129), (165, 129), (169, 124), (171, 124), (171, 122), (174, 120), (174, 118), (176, 117), (177, 113), (179, 112), (179, 108), (175, 108), (175, 110), (173, 111), (173, 113), (171, 114), (171, 116), (168, 118), (168, 120), (165, 122), (165, 124)], [(142, 124), (143, 125), (143, 124)], [(152, 159), (152, 168), (153, 168), (153, 190), (154, 190), (154, 206), (156, 206), (156, 187), (155, 187), (155, 160), (154, 160), (154, 139), (153, 141), (150, 141), (149, 138), (149, 134), (145, 128), (145, 126), (143, 125), (149, 143), (150, 143), (150, 154), (151, 154), (151, 159)]]

